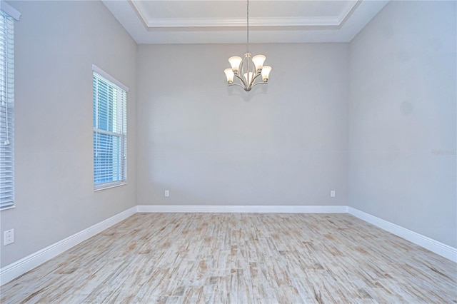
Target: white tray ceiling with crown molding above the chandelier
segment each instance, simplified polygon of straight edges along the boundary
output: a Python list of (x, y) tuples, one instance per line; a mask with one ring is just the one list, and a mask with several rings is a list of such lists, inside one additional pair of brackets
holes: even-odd
[[(246, 43), (243, 0), (103, 0), (137, 44)], [(388, 0), (251, 0), (251, 43), (349, 42)]]

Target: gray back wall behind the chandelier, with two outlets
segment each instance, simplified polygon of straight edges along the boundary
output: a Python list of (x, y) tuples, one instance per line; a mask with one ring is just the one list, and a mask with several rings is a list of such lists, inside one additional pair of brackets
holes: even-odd
[(245, 45), (139, 46), (139, 205), (347, 205), (348, 44), (250, 51), (273, 70), (246, 93)]

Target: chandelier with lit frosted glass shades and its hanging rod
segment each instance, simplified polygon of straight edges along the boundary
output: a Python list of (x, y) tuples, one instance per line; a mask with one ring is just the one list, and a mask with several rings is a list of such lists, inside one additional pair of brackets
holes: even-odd
[[(268, 83), (268, 75), (271, 71), (271, 66), (263, 66), (266, 57), (263, 55), (256, 55), (251, 58), (249, 53), (249, 0), (246, 6), (246, 54), (244, 58), (233, 56), (229, 58), (231, 69), (225, 69), (224, 73), (227, 76), (227, 83), (229, 86), (241, 86), (244, 91), (251, 91), (253, 86), (260, 83)], [(258, 80), (258, 76), (262, 76), (262, 81)], [(238, 78), (239, 83), (233, 83), (233, 77)]]

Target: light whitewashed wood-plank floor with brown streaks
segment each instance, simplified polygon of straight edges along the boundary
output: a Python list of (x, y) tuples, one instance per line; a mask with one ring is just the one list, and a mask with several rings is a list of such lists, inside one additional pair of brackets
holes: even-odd
[(457, 265), (348, 214), (136, 213), (1, 303), (457, 303)]

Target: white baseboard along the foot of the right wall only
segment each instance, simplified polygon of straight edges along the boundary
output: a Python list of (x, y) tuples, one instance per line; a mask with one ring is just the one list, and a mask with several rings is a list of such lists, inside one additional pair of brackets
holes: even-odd
[(416, 245), (426, 248), (433, 253), (441, 255), (448, 260), (452, 260), (454, 263), (457, 263), (457, 248), (453, 248), (449, 245), (440, 243), (438, 240), (433, 240), (432, 238), (428, 238), (425, 235), (421, 235), (414, 231), (398, 226), (394, 223), (385, 221), (382, 218), (376, 218), (376, 216), (371, 216), (371, 214), (364, 213), (363, 211), (359, 211), (352, 207), (348, 207), (348, 213), (356, 216), (356, 218), (360, 218), (363, 221), (371, 223), (378, 228), (398, 235), (405, 240), (409, 240), (411, 243), (415, 243)]

